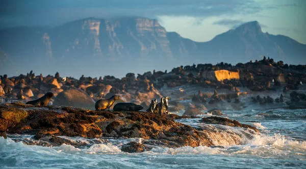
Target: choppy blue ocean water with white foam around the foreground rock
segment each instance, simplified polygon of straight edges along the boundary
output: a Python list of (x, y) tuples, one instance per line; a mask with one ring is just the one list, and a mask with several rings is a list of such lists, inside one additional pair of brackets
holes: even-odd
[(261, 134), (248, 139), (239, 128), (202, 124), (200, 118), (180, 119), (177, 121), (193, 127), (211, 126), (236, 133), (241, 136), (241, 144), (233, 144), (232, 138), (226, 137), (227, 140), (216, 140), (220, 147), (154, 147), (143, 153), (120, 150), (122, 144), (132, 140), (141, 142), (140, 138), (65, 137), (84, 141), (88, 146), (42, 147), (25, 144), (35, 141), (31, 135), (15, 134), (8, 135), (8, 139), (0, 137), (0, 168), (306, 168), (306, 110), (223, 113), (257, 127)]

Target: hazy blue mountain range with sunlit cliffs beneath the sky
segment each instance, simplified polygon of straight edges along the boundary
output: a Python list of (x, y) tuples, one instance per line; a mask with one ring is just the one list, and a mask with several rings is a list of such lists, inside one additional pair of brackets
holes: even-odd
[[(156, 19), (85, 18), (54, 28), (0, 30), (0, 74), (123, 77), (128, 72), (172, 69), (179, 65), (236, 64), (269, 56), (306, 64), (306, 45), (284, 35), (263, 33), (259, 22), (244, 23), (208, 42), (167, 32)], [(17, 73), (17, 74), (16, 74)]]

